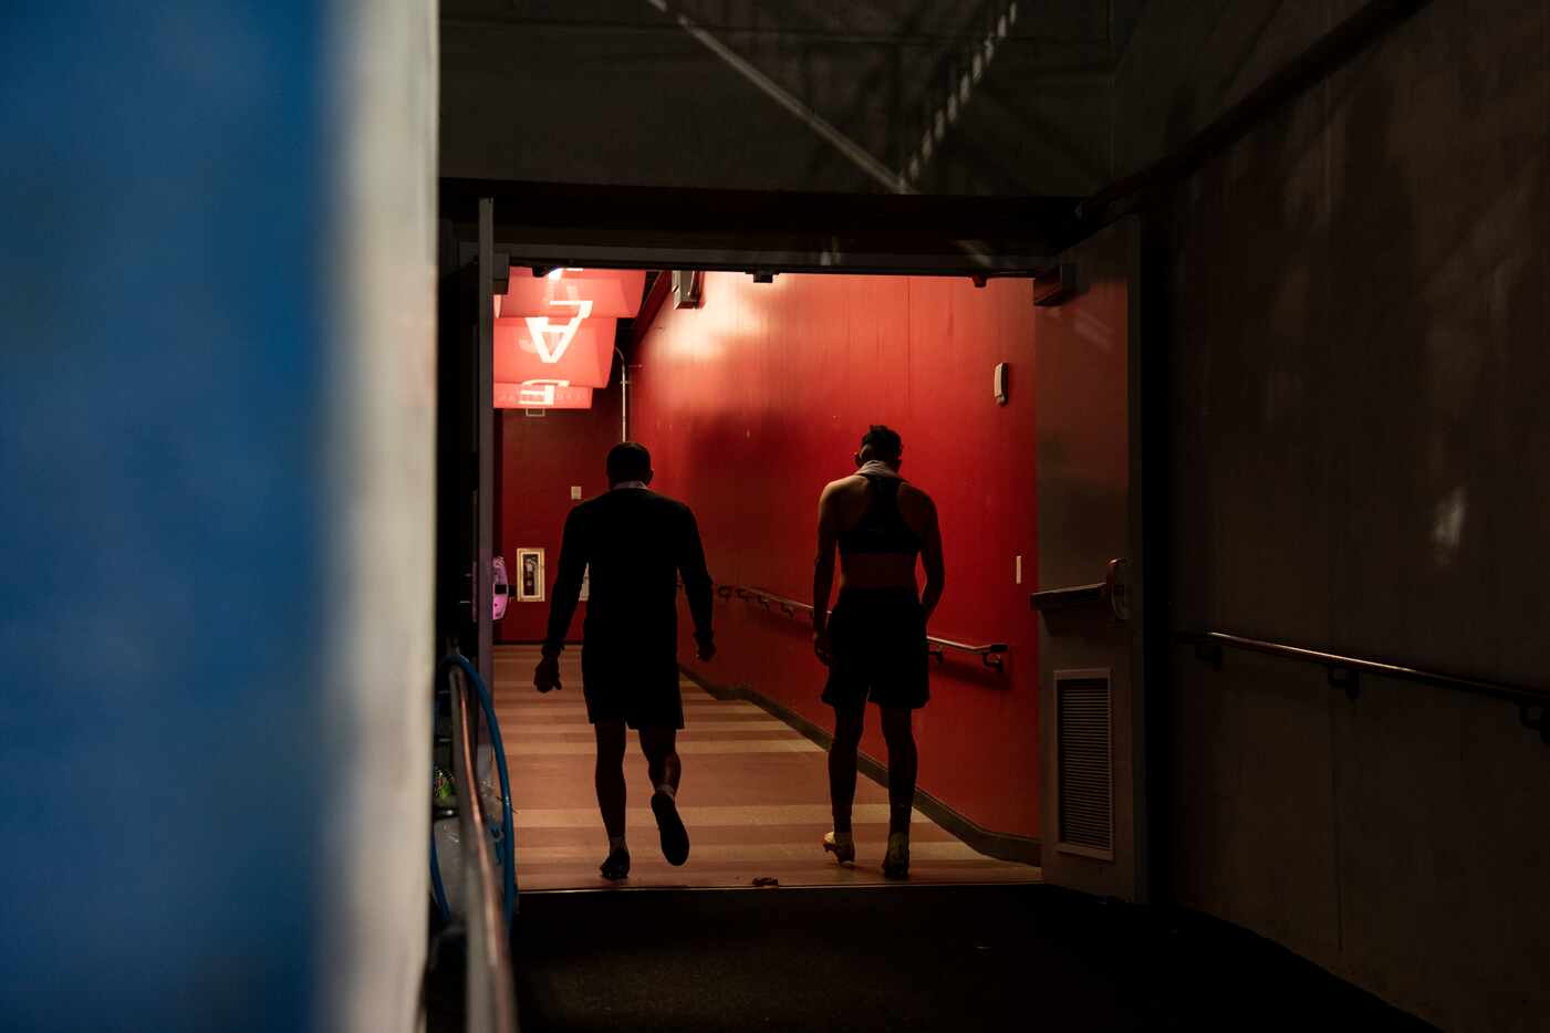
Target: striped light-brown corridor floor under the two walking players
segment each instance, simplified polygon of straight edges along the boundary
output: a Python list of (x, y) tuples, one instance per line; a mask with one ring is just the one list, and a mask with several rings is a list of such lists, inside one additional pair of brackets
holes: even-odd
[[(561, 657), (564, 688), (533, 691), (535, 646), (496, 650), (496, 716), (505, 740), (516, 813), (518, 884), (522, 891), (608, 889), (597, 866), (608, 836), (592, 790), (592, 726), (581, 700), (577, 647)], [(837, 866), (820, 841), (831, 829), (823, 750), (758, 706), (716, 700), (684, 681), (679, 756), (684, 782), (679, 813), (688, 825), (688, 864), (662, 858), (651, 816), (651, 782), (631, 736), (625, 757), (629, 785), (631, 875), (623, 887), (732, 887), (755, 878), (781, 886), (884, 883), (888, 791), (860, 776), (856, 787), (856, 867)], [(876, 720), (870, 714), (868, 720)], [(911, 883), (1028, 883), (1037, 867), (997, 861), (972, 850), (914, 812), (910, 829)]]

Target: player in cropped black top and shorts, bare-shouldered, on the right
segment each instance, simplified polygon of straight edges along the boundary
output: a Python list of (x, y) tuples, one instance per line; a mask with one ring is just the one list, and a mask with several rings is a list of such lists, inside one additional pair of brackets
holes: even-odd
[[(942, 539), (936, 506), (899, 475), (902, 441), (873, 426), (856, 454), (857, 471), (829, 483), (818, 499), (818, 558), (812, 578), (814, 650), (829, 668), (823, 702), (834, 708), (829, 799), (834, 832), (823, 849), (842, 864), (856, 860), (851, 804), (856, 750), (866, 702), (877, 705), (888, 742), (888, 850), (884, 873), (910, 869), (914, 804), (913, 711), (930, 697), (925, 623), (942, 596)], [(840, 553), (840, 598), (829, 613), (834, 551)], [(925, 590), (916, 589), (916, 559)]]

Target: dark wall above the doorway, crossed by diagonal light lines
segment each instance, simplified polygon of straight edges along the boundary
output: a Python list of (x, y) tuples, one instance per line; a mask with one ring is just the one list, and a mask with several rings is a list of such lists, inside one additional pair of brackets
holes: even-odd
[[(1135, 3), (448, 0), (443, 177), (634, 186), (890, 189), (772, 101), (679, 17), (925, 194), (1074, 195), (1110, 172), (1119, 33)], [(1118, 20), (1118, 29), (1114, 28)], [(987, 36), (994, 57), (973, 79)], [(972, 79), (947, 112), (949, 84)], [(944, 115), (946, 118), (946, 115)]]

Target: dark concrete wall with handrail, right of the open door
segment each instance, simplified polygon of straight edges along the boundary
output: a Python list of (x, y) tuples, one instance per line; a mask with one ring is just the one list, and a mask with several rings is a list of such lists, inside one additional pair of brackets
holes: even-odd
[[(1153, 0), (1119, 170), (1359, 5)], [(1175, 629), (1545, 685), (1550, 8), (1434, 0), (1159, 212)], [(1446, 1028), (1550, 1010), (1550, 748), (1510, 705), (1178, 647), (1167, 889)]]

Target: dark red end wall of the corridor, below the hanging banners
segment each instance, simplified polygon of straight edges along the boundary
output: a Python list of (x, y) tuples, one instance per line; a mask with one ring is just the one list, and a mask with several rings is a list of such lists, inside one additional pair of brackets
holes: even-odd
[[(494, 545), (505, 556), (515, 581), (516, 550), (544, 550), (544, 602), (518, 602), (512, 598), (505, 619), (494, 626), (496, 641), (539, 641), (549, 626), (549, 590), (560, 562), (560, 534), (575, 502), (570, 486), (581, 486), (591, 499), (608, 489), (604, 458), (618, 441), (618, 369), (614, 383), (592, 395), (591, 409), (550, 409), (542, 417), (527, 417), (521, 409), (496, 412), (498, 491)], [(515, 592), (515, 589), (513, 589)], [(581, 640), (586, 604), (570, 621), (572, 641)]]

